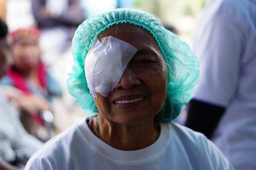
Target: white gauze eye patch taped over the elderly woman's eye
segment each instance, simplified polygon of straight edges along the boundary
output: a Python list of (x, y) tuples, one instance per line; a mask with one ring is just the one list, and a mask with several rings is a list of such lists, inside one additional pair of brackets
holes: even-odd
[(108, 97), (120, 81), (124, 70), (138, 51), (135, 47), (115, 37), (95, 38), (84, 61), (84, 72), (90, 93)]

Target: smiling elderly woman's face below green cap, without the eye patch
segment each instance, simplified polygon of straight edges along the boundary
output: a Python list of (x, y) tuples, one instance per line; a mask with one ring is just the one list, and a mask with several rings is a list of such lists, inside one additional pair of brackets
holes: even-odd
[[(110, 122), (138, 125), (152, 118), (164, 104), (167, 90), (167, 65), (152, 35), (132, 24), (118, 24), (100, 35), (112, 36), (138, 49), (124, 74), (105, 98), (94, 98), (99, 114)], [(102, 80), (104, 81), (104, 80)]]

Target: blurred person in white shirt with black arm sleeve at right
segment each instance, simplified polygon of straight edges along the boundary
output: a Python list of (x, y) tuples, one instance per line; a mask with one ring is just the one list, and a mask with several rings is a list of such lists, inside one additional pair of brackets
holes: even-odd
[(199, 83), (186, 126), (236, 170), (256, 169), (256, 1), (209, 0), (194, 39)]

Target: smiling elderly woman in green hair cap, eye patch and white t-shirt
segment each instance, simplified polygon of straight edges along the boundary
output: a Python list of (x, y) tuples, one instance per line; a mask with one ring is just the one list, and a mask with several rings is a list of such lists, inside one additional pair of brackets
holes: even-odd
[(198, 60), (154, 16), (117, 9), (80, 25), (68, 90), (94, 114), (44, 145), (25, 169), (233, 169), (206, 137), (172, 123)]

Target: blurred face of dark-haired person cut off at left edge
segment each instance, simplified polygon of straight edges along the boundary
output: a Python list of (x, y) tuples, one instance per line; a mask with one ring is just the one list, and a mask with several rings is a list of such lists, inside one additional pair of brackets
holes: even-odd
[(11, 61), (11, 51), (6, 38), (0, 38), (0, 78), (6, 74)]

